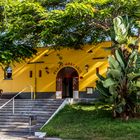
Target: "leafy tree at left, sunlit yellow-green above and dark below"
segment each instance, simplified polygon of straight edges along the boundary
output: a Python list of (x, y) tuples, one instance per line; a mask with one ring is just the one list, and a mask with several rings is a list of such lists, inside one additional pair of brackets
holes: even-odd
[(0, 2), (0, 65), (4, 69), (36, 54), (45, 9), (38, 3)]

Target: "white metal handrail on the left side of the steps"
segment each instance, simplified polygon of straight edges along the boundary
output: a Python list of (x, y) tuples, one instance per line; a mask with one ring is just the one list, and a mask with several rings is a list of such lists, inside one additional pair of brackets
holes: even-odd
[(15, 114), (15, 98), (20, 95), (21, 93), (23, 93), (23, 91), (25, 91), (26, 89), (30, 88), (31, 90), (31, 100), (33, 99), (33, 87), (30, 85), (28, 87), (25, 87), (23, 90), (21, 90), (20, 92), (18, 92), (14, 97), (12, 97), (10, 100), (8, 100), (6, 103), (4, 103), (2, 106), (0, 106), (0, 110), (5, 107), (9, 102), (13, 101), (13, 115)]

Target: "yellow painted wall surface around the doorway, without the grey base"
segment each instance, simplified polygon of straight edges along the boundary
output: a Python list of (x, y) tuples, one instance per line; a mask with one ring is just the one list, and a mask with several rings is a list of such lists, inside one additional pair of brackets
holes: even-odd
[[(4, 80), (3, 71), (0, 70), (0, 89), (3, 89), (6, 93), (19, 92), (28, 85), (32, 85), (35, 89), (36, 77), (36, 92), (55, 92), (57, 73), (61, 68), (67, 66), (75, 68), (79, 73), (79, 77), (83, 77), (79, 78), (80, 91), (85, 91), (86, 87), (95, 87), (95, 81), (97, 80), (96, 68), (99, 67), (100, 74), (104, 74), (108, 66), (107, 56), (110, 52), (104, 50), (103, 47), (108, 47), (110, 44), (110, 42), (105, 42), (96, 46), (86, 45), (82, 50), (63, 49), (56, 51), (39, 48), (36, 56), (27, 62), (15, 64), (12, 67), (13, 80)], [(92, 50), (92, 53), (88, 53), (89, 50)], [(57, 54), (62, 56), (61, 62), (63, 65), (61, 66)], [(106, 58), (94, 60), (95, 57)], [(41, 61), (44, 61), (44, 63), (34, 63)], [(89, 65), (88, 72), (85, 70), (85, 65)], [(48, 67), (49, 73), (46, 72), (46, 67)], [(32, 78), (29, 77), (29, 71), (31, 70), (33, 71)], [(42, 77), (39, 77), (39, 70), (42, 70)]]

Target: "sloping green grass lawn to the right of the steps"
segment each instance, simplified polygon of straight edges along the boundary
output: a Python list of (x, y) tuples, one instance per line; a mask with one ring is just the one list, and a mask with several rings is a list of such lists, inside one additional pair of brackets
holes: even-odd
[(113, 119), (110, 110), (72, 105), (62, 109), (42, 131), (62, 139), (140, 140), (140, 120), (126, 122)]

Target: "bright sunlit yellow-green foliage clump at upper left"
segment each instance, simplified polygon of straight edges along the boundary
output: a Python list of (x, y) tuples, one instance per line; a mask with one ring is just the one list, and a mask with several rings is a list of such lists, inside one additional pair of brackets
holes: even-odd
[[(44, 29), (42, 20), (45, 18), (45, 9), (38, 3), (17, 2), (8, 3), (7, 9), (8, 31), (12, 39), (30, 39), (35, 43), (40, 41), (40, 32)], [(34, 38), (34, 40), (32, 40)]]

